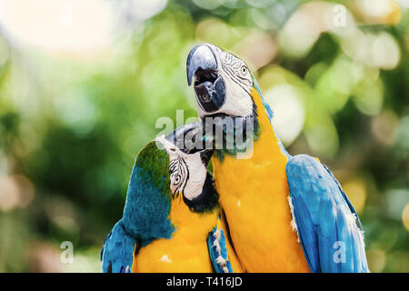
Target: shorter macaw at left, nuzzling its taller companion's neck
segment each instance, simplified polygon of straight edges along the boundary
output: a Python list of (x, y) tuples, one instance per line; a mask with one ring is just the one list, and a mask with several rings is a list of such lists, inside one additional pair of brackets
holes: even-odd
[(101, 250), (103, 272), (241, 272), (207, 171), (212, 151), (177, 141), (201, 124), (160, 135), (136, 156), (123, 217)]

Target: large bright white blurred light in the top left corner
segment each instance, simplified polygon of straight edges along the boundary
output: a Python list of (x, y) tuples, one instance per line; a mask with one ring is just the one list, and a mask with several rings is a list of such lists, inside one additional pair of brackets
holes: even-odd
[(113, 41), (113, 11), (102, 0), (5, 0), (0, 23), (18, 43), (54, 53), (95, 55)]

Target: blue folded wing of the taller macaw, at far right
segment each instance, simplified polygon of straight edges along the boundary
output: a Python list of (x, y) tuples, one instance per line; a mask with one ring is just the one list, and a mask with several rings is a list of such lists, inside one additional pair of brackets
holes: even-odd
[(286, 166), (294, 219), (312, 272), (369, 272), (361, 222), (331, 171), (311, 156)]

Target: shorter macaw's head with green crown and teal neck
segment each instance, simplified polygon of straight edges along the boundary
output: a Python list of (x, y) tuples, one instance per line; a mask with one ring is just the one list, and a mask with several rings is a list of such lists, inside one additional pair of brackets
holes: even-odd
[(172, 236), (175, 226), (170, 213), (176, 201), (190, 213), (213, 212), (218, 206), (214, 180), (207, 172), (212, 151), (176, 146), (180, 137), (200, 128), (201, 123), (185, 125), (158, 136), (136, 157), (124, 221), (129, 233), (141, 237), (142, 246)]

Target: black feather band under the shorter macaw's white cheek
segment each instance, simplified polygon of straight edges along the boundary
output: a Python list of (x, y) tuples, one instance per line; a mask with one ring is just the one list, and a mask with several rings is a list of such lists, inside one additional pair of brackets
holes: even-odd
[(207, 172), (202, 193), (192, 200), (184, 196), (186, 206), (195, 213), (210, 213), (219, 205), (219, 195), (214, 188), (213, 176)]

